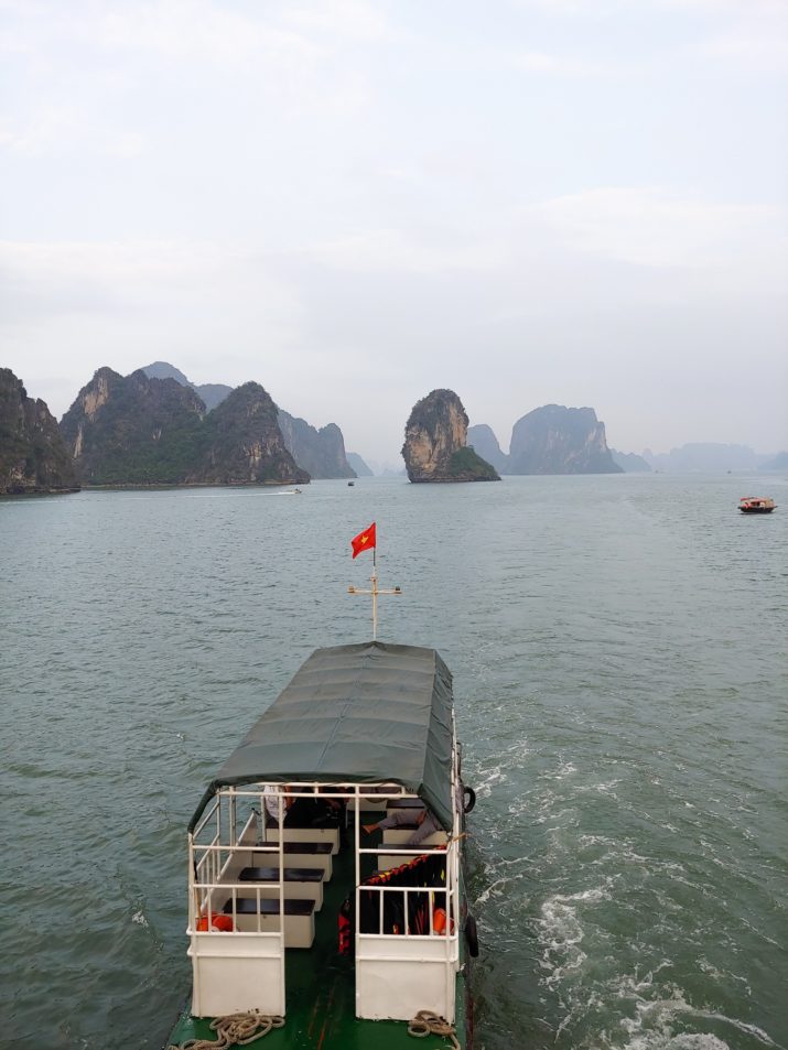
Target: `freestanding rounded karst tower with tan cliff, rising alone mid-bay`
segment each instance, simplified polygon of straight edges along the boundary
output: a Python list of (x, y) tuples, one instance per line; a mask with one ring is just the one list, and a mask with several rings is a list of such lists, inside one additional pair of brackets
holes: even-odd
[(402, 457), (411, 481), (499, 481), (466, 444), (468, 418), (453, 390), (417, 402), (404, 429)]

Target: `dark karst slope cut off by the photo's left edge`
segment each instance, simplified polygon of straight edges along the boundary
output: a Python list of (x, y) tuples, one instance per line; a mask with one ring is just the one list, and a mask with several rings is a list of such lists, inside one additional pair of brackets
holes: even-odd
[(0, 495), (76, 492), (74, 461), (46, 404), (0, 368)]

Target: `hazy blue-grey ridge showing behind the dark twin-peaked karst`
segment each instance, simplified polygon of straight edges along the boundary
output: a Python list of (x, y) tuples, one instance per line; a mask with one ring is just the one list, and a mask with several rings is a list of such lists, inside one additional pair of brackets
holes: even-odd
[[(218, 408), (229, 397), (233, 387), (224, 383), (202, 383), (196, 386), (169, 361), (154, 361), (145, 365), (142, 371), (150, 378), (174, 379), (183, 387), (191, 387), (211, 410)], [(279, 427), (284, 446), (295, 463), (313, 478), (353, 478), (356, 474), (345, 455), (345, 441), (336, 423), (327, 423), (320, 430), (306, 420), (296, 419), (289, 412), (278, 409)]]

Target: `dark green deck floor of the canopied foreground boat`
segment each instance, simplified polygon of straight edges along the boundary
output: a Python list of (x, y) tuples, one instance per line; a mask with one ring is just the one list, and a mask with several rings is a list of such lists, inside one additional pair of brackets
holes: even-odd
[[(379, 813), (363, 814), (363, 822), (379, 819)], [(380, 832), (365, 836), (364, 846), (380, 842)], [(355, 1016), (355, 963), (338, 954), (337, 916), (339, 906), (354, 886), (354, 829), (349, 844), (333, 857), (333, 875), (324, 886), (323, 908), (315, 914), (315, 939), (311, 949), (288, 949), (285, 953), (287, 1017), (283, 1028), (273, 1029), (252, 1046), (261, 1050), (413, 1050), (413, 1037), (406, 1021), (359, 1020)], [(364, 858), (371, 874), (371, 857)], [(464, 977), (457, 974), (457, 1004), (465, 1004)], [(191, 1000), (190, 1000), (191, 1002)], [(170, 1036), (180, 1046), (188, 1039), (216, 1039), (209, 1018), (193, 1018), (188, 1007)], [(463, 1026), (457, 1039), (465, 1046)], [(235, 1046), (235, 1044), (234, 1044)], [(440, 1036), (419, 1040), (420, 1050), (445, 1048)]]

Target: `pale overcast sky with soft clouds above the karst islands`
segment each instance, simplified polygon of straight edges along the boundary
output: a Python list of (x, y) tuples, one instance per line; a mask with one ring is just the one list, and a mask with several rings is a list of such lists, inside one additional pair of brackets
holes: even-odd
[[(0, 365), (788, 447), (788, 0), (0, 0)], [(401, 461), (400, 461), (401, 463)]]

